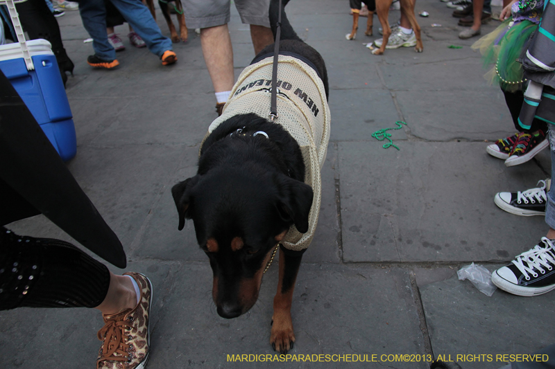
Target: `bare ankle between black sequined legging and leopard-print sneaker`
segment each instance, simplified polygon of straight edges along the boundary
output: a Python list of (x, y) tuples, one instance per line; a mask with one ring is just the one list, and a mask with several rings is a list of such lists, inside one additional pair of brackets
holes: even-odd
[(116, 276), (110, 271), (110, 287), (102, 303), (95, 307), (104, 315), (123, 312), (137, 306), (137, 294), (128, 276)]

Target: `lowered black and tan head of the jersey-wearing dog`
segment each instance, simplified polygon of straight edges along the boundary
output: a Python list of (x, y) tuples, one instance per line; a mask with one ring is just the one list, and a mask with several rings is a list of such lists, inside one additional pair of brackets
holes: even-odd
[(266, 263), (289, 227), (307, 232), (311, 187), (280, 173), (216, 168), (176, 184), (171, 192), (178, 229), (193, 219), (198, 244), (210, 258), (218, 314), (235, 318), (248, 312)]

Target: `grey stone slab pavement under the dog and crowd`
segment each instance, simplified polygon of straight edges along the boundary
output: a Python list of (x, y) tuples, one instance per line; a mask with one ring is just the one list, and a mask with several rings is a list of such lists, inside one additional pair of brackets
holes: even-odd
[[(377, 17), (375, 37), (359, 30), (349, 42), (348, 1), (287, 6), (300, 37), (325, 59), (332, 111), (321, 216), (297, 280), (296, 344), (289, 354), (360, 355), (345, 357), (353, 361), (413, 354), (416, 362), (228, 361), (232, 354), (274, 354), (269, 334), (278, 268), (266, 273), (259, 302), (246, 316), (225, 320), (212, 303), (212, 271), (192, 222), (177, 230), (171, 186), (195, 174), (200, 141), (216, 118), (200, 39), (189, 30), (187, 44), (174, 44), (178, 63), (168, 67), (130, 46), (126, 26), (119, 26), (127, 47), (118, 53), (120, 66), (94, 70), (85, 62), (92, 46), (83, 43), (89, 36), (78, 12), (58, 18), (76, 64), (67, 95), (78, 154), (68, 166), (120, 237), (127, 270), (153, 282), (148, 368), (423, 369), (442, 355), (464, 369), (496, 369), (505, 364), (497, 354), (528, 354), (554, 343), (553, 293), (523, 298), (497, 290), (487, 297), (456, 278), (470, 262), (493, 271), (545, 235), (543, 217), (505, 213), (493, 196), (549, 177), (549, 152), (513, 168), (486, 154), (484, 141), (513, 133), (502, 92), (484, 80), (480, 55), (470, 50), (475, 39), (457, 37), (462, 28), (452, 10), (418, 0), (416, 12), (422, 10), (430, 14), (417, 17), (423, 53), (402, 48), (375, 56), (362, 43), (379, 37)], [(390, 21), (398, 16), (390, 12)], [(169, 35), (160, 10), (157, 18)], [(498, 24), (483, 26), (482, 35)], [(239, 75), (254, 52), (234, 9), (230, 32)], [(407, 123), (390, 131), (400, 150), (384, 150), (372, 134), (397, 120)], [(71, 241), (42, 216), (8, 228)], [(94, 368), (101, 327), (93, 309), (0, 312), (0, 368)], [(491, 360), (479, 356), (488, 354)]]

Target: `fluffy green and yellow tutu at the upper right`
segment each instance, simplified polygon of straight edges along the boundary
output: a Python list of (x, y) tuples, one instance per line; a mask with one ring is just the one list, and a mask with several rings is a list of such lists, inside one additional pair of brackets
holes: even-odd
[(495, 64), (484, 78), (491, 84), (498, 83), (504, 91), (515, 92), (522, 90), (524, 82), (522, 64), (516, 60), (538, 25), (531, 21), (520, 21), (512, 25), (511, 23), (513, 22), (507, 19), (471, 47), (483, 55), (484, 67)]

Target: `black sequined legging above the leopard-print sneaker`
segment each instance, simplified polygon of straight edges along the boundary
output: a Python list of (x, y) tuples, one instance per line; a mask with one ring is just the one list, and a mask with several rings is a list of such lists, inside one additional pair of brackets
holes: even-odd
[(109, 286), (108, 268), (69, 242), (0, 227), (0, 310), (96, 307)]

